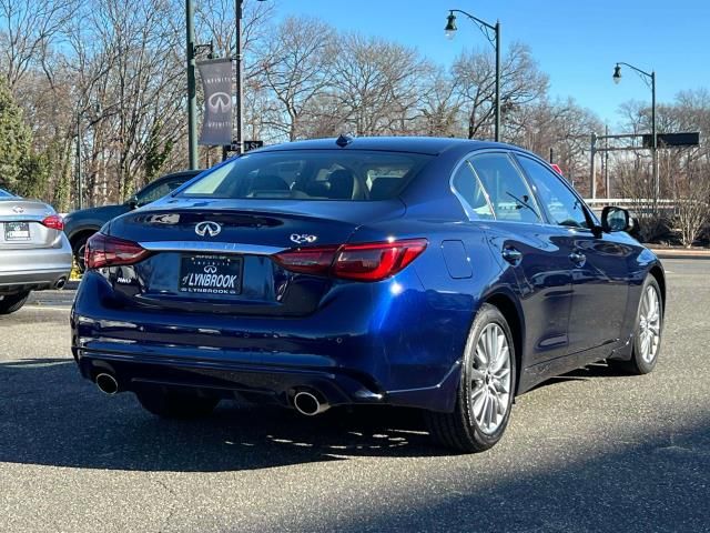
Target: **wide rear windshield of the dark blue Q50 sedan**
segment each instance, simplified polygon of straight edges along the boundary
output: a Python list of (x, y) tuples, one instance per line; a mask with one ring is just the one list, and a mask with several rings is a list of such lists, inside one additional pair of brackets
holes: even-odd
[(377, 151), (283, 151), (243, 155), (207, 172), (181, 197), (225, 199), (386, 200), (433, 155)]

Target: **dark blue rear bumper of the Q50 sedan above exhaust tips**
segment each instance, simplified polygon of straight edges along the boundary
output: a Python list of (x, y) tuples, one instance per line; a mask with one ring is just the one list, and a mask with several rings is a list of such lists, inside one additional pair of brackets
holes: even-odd
[(450, 411), (470, 310), (435, 309), (415, 289), (393, 299), (389, 290), (369, 285), (361, 305), (334, 298), (307, 316), (244, 316), (122, 304), (90, 271), (72, 309), (72, 351), (85, 378), (105, 369), (124, 390), (150, 382), (286, 404), (294, 390), (312, 388), (333, 405)]

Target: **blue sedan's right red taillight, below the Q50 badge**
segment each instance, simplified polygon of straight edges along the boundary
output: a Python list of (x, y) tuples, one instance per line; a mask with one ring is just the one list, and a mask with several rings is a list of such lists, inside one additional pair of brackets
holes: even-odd
[(403, 270), (424, 252), (426, 245), (426, 239), (407, 239), (301, 248), (278, 253), (274, 255), (274, 260), (292, 272), (333, 275), (344, 280), (381, 281)]

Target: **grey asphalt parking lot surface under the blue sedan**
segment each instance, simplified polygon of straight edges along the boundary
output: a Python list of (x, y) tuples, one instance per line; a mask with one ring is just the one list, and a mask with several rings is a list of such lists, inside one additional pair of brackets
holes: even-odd
[(550, 380), (477, 455), (402, 410), (160, 421), (80, 379), (72, 292), (40, 293), (0, 318), (0, 531), (710, 531), (710, 261), (663, 264), (656, 371)]

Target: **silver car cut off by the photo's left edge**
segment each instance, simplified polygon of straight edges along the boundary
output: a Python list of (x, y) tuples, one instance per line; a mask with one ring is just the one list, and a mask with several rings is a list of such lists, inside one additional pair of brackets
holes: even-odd
[(18, 311), (31, 291), (61, 289), (71, 248), (51, 205), (0, 189), (0, 314)]

